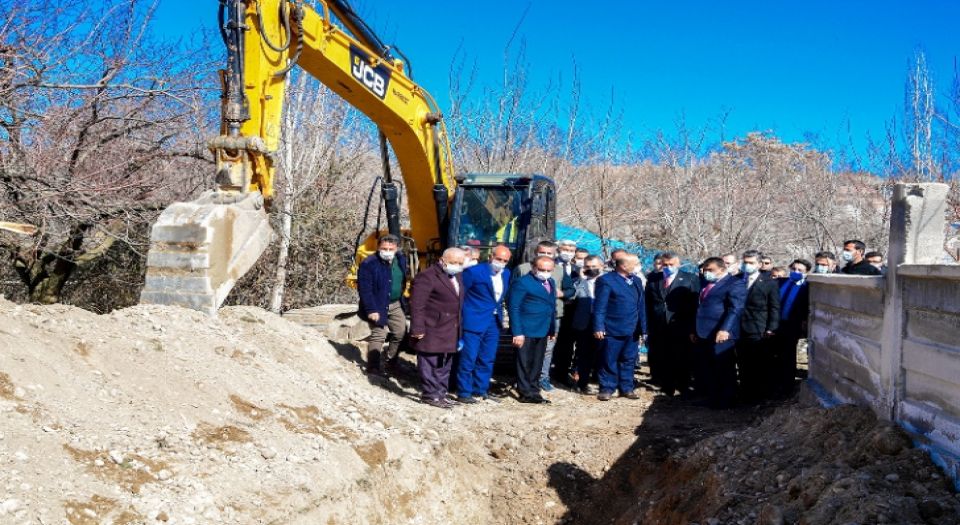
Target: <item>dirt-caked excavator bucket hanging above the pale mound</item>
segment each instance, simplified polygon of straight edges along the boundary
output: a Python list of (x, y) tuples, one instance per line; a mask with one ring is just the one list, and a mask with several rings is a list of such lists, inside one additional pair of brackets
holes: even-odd
[(153, 225), (141, 304), (215, 316), (227, 294), (273, 239), (257, 193), (209, 192), (172, 204)]

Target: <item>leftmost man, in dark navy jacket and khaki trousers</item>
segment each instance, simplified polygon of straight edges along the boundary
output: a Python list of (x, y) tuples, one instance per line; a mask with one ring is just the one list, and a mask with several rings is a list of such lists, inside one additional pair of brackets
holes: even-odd
[[(396, 362), (400, 341), (407, 331), (407, 258), (397, 250), (400, 239), (384, 235), (377, 241), (377, 253), (367, 256), (357, 268), (359, 315), (370, 325), (367, 338), (367, 373), (387, 372)], [(387, 341), (387, 351), (383, 343)]]

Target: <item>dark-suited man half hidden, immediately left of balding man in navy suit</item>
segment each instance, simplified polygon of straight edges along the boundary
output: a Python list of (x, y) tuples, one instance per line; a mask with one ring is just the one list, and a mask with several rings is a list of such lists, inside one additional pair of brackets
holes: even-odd
[(590, 381), (596, 381), (599, 371), (597, 339), (593, 336), (593, 299), (596, 296), (597, 279), (603, 274), (603, 259), (596, 255), (588, 256), (583, 263), (583, 278), (574, 284), (577, 295), (573, 302), (574, 339), (577, 343), (577, 389), (581, 394), (589, 395)]

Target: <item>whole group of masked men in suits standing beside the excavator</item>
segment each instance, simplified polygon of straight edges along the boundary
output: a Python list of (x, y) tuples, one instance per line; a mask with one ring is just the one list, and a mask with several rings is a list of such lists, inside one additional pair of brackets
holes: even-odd
[(513, 271), (506, 245), (482, 262), (475, 247), (448, 248), (407, 294), (408, 262), (398, 245), (382, 237), (357, 274), (360, 315), (371, 327), (367, 370), (394, 373), (406, 339), (417, 355), (421, 400), (445, 409), (498, 401), (490, 384), (501, 333), (516, 352), (523, 403), (549, 403), (542, 393), (554, 383), (601, 401), (637, 399), (641, 344), (649, 382), (664, 395), (726, 408), (736, 399), (788, 394), (806, 337), (807, 274), (882, 272), (868, 258), (879, 254), (856, 240), (844, 243), (840, 270), (833, 254), (821, 252), (815, 263), (796, 259), (778, 272), (750, 250), (707, 258), (696, 273), (682, 270), (674, 252), (659, 254), (644, 273), (625, 250), (605, 262), (572, 241), (545, 241)]

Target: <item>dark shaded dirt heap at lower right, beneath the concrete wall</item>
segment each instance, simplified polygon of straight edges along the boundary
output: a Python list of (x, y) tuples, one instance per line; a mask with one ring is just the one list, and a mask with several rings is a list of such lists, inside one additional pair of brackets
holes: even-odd
[(960, 523), (952, 482), (861, 408), (788, 406), (672, 454), (618, 523)]

